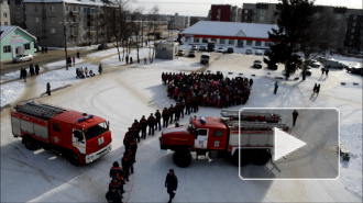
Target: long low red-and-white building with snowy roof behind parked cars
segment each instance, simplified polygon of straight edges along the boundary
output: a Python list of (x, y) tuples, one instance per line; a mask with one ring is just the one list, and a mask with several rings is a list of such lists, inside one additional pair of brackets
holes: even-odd
[(209, 41), (218, 46), (268, 48), (267, 32), (277, 29), (275, 24), (199, 21), (182, 33), (183, 43), (204, 44)]

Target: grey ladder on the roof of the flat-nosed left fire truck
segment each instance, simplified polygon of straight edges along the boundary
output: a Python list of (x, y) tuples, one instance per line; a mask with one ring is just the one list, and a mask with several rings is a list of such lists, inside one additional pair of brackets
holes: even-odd
[(15, 110), (19, 112), (28, 113), (31, 115), (36, 115), (44, 119), (51, 119), (54, 115), (66, 112), (67, 110), (47, 105), (47, 104), (37, 104), (32, 102), (26, 102), (22, 105), (16, 105)]

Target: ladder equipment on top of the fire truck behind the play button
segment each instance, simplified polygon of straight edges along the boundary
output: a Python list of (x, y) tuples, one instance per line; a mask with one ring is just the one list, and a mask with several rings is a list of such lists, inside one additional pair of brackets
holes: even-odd
[[(222, 117), (228, 117), (230, 120), (239, 120), (240, 112), (233, 111), (233, 110), (222, 110), (221, 111)], [(241, 112), (241, 121), (250, 121), (251, 117), (254, 116), (255, 120), (258, 120), (258, 117), (263, 116), (263, 121), (260, 122), (267, 122), (267, 123), (279, 123), (280, 122), (280, 115), (273, 114), (273, 113), (262, 113), (262, 112)], [(254, 121), (251, 121), (254, 122)]]

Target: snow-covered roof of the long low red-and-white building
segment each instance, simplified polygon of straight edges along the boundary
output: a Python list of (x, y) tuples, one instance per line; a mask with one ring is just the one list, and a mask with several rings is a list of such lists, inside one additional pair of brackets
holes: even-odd
[(184, 35), (215, 35), (268, 38), (267, 32), (277, 29), (276, 24), (240, 22), (199, 21), (186, 29)]

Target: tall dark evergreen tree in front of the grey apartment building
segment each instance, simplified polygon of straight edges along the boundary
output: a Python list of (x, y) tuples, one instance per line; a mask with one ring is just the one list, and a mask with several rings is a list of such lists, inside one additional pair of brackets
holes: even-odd
[(280, 63), (285, 65), (286, 79), (290, 72), (302, 67), (302, 58), (294, 54), (300, 44), (310, 40), (309, 29), (314, 15), (314, 2), (309, 0), (282, 0), (277, 4), (277, 27), (268, 32), (272, 41), (267, 65)]

